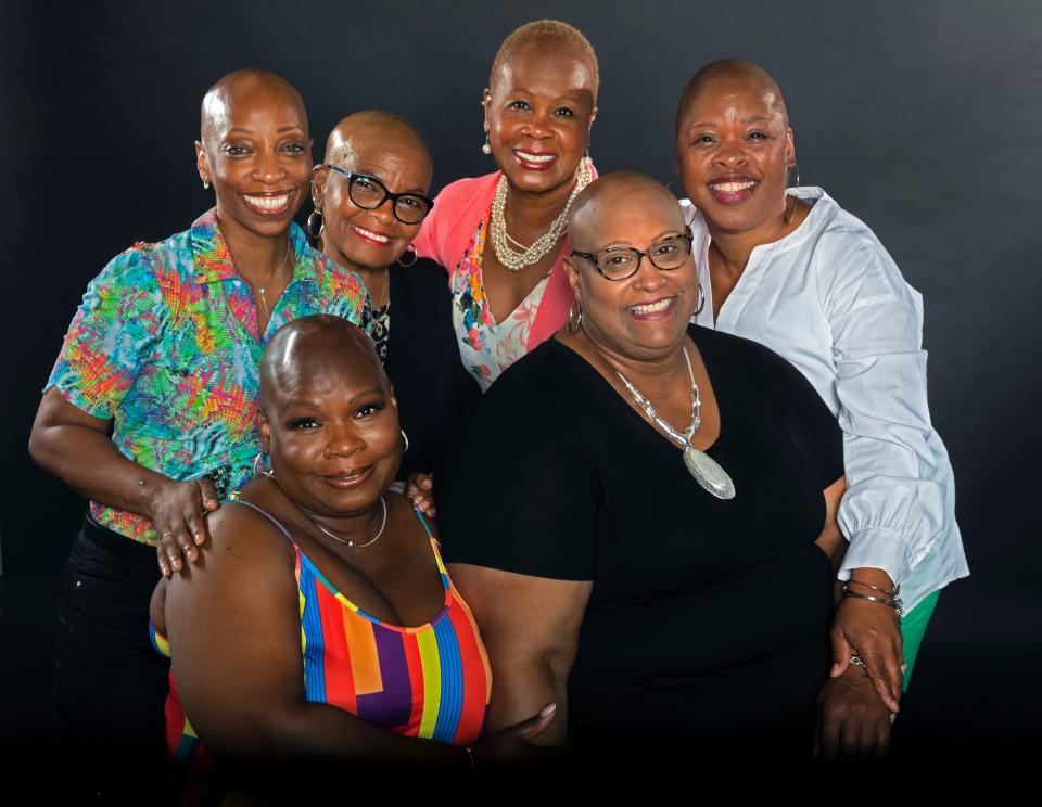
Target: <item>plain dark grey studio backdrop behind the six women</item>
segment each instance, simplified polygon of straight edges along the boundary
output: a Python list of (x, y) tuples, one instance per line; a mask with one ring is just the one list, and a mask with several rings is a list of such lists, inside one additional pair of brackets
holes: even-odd
[(318, 159), (343, 115), (397, 112), (428, 138), (437, 189), (491, 170), (479, 151), (488, 67), (513, 27), (542, 16), (576, 25), (599, 54), (592, 152), (602, 172), (674, 177), (675, 103), (706, 62), (749, 59), (777, 78), (802, 183), (867, 221), (925, 297), (931, 411), (973, 577), (941, 598), (908, 720), (953, 748), (1022, 747), (1035, 732), (1042, 5), (80, 5), (5, 8), (0, 25), (0, 744), (49, 739), (55, 589), (82, 512), (26, 452), (39, 389), (109, 258), (211, 206), (192, 150), (203, 92), (238, 67), (283, 75), (304, 95)]

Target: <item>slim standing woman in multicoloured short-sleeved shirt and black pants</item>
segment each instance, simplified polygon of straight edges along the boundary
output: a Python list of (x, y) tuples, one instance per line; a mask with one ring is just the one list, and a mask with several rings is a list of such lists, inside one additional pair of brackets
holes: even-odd
[(195, 561), (205, 513), (251, 475), (268, 337), (316, 312), (368, 326), (365, 286), (292, 225), (310, 145), (301, 97), (283, 79), (240, 71), (214, 85), (196, 154), (216, 208), (105, 267), (47, 384), (30, 451), (90, 499), (63, 584), (59, 719), (110, 769), (120, 759), (112, 782), (92, 763), (100, 784), (87, 786), (131, 787), (131, 770), (156, 781), (127, 761), (162, 759), (167, 670), (147, 641), (155, 547), (164, 572), (181, 568), (181, 555)]

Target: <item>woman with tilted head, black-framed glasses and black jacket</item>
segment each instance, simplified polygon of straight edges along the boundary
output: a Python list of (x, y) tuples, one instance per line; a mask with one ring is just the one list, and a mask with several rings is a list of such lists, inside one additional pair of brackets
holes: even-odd
[[(380, 111), (348, 115), (315, 167), (307, 221), (319, 248), (369, 289), (371, 336), (408, 440), (399, 479), (437, 469), (479, 396), (456, 347), (445, 270), (417, 258), (412, 247), (433, 206), (427, 196), (432, 174), (427, 145), (406, 120)], [(419, 503), (430, 512), (425, 498)]]

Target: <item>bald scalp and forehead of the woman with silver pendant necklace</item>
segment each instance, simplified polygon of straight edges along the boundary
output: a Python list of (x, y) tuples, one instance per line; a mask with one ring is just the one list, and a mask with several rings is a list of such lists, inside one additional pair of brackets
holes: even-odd
[(661, 182), (636, 171), (606, 174), (572, 203), (568, 238), (576, 249), (599, 249), (609, 233), (614, 238), (621, 232), (622, 240), (631, 240), (624, 233), (638, 220), (641, 225), (653, 222), (659, 232), (684, 232), (687, 227), (676, 196)]

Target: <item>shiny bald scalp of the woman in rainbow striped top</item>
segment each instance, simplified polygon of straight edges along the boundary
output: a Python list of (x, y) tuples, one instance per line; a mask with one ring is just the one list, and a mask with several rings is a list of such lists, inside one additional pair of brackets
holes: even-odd
[(368, 366), (384, 389), (390, 387), (372, 342), (342, 317), (316, 313), (282, 325), (268, 342), (260, 359), (260, 402), (301, 385), (304, 376), (333, 372), (345, 366)]

